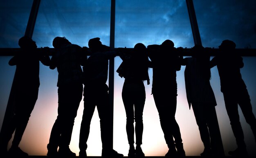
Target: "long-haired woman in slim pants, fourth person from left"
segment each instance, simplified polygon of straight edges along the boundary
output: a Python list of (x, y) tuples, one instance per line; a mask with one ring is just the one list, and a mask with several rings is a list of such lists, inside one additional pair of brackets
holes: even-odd
[[(141, 149), (143, 134), (143, 110), (146, 100), (144, 81), (149, 85), (148, 54), (142, 43), (137, 43), (131, 52), (121, 51), (123, 60), (117, 69), (119, 76), (124, 77), (122, 99), (126, 111), (126, 133), (130, 145), (129, 157), (143, 157)], [(133, 125), (135, 120), (135, 127)], [(134, 129), (135, 128), (135, 129)], [(134, 131), (136, 136), (136, 150), (134, 148)]]

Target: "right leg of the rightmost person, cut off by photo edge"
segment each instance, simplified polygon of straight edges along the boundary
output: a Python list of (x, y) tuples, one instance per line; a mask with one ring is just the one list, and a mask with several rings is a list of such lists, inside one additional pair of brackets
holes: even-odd
[(241, 90), (240, 95), (241, 97), (238, 100), (238, 105), (243, 112), (246, 122), (251, 126), (256, 142), (256, 119), (252, 111), (251, 99), (247, 89)]

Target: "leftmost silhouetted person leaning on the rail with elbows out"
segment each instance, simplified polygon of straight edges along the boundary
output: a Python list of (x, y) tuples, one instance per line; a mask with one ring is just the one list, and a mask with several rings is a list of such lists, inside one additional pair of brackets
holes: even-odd
[(9, 65), (16, 65), (13, 79), (14, 113), (7, 128), (4, 129), (4, 138), (0, 140), (0, 147), (2, 154), (7, 154), (8, 142), (15, 131), (8, 154), (23, 157), (28, 154), (18, 146), (38, 98), (40, 62), (49, 66), (50, 58), (42, 50), (38, 52), (36, 42), (27, 36), (20, 38), (18, 44), (21, 51), (9, 60)]

